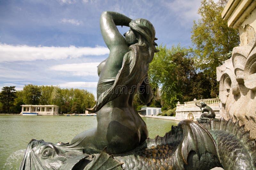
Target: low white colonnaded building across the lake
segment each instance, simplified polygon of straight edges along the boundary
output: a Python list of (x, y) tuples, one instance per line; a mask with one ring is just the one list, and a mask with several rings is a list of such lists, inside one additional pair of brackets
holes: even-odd
[(58, 115), (59, 106), (56, 105), (21, 105), (21, 115)]

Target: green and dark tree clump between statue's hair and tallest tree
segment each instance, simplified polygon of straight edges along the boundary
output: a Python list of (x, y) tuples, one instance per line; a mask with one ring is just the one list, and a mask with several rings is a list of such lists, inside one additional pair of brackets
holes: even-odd
[(199, 96), (209, 98), (210, 80), (203, 72), (196, 72), (194, 60), (188, 55), (190, 49), (180, 45), (168, 49), (160, 45), (158, 50), (148, 74), (152, 86), (161, 88), (159, 98), (163, 110), (175, 108), (178, 101), (183, 103)]

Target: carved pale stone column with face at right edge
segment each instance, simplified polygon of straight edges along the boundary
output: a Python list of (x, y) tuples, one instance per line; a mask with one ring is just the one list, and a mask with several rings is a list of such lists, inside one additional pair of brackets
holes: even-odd
[(228, 27), (239, 30), (241, 44), (217, 67), (221, 115), (239, 120), (256, 138), (256, 1), (229, 0), (222, 11)]

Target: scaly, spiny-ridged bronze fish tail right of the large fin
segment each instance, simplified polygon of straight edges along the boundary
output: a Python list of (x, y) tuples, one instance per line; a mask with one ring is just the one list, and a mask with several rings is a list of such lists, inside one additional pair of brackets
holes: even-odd
[[(224, 169), (256, 169), (256, 141), (239, 121), (212, 121), (209, 129), (216, 141)], [(236, 154), (234, 154), (236, 153)]]

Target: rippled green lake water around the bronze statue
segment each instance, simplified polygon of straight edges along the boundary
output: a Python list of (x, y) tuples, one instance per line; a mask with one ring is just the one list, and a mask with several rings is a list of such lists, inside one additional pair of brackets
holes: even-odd
[[(164, 136), (179, 122), (143, 117), (149, 138)], [(0, 115), (0, 169), (19, 169), (28, 142), (70, 142), (78, 133), (97, 127), (96, 116)]]

